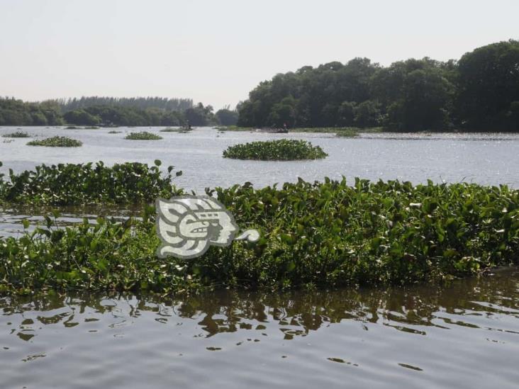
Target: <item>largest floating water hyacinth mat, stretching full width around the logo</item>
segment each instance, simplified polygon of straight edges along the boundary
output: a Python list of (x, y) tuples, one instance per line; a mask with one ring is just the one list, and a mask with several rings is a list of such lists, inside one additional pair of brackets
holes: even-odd
[[(414, 283), (519, 264), (519, 191), (506, 186), (345, 180), (207, 191), (257, 243), (157, 259), (154, 210), (0, 238), (0, 291), (293, 288)], [(28, 227), (28, 222), (25, 223)]]

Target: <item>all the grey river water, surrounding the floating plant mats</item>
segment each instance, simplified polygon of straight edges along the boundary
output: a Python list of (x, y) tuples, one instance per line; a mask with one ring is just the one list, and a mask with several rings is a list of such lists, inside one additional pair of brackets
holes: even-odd
[[(16, 128), (0, 128), (0, 135)], [(467, 181), (519, 188), (519, 136), (469, 134), (160, 133), (23, 128), (67, 135), (76, 149), (29, 147), (0, 138), (2, 172), (40, 163), (137, 161), (184, 171), (195, 191), (251, 181), (324, 176)], [(228, 145), (291, 137), (329, 157), (312, 162), (224, 159)], [(43, 209), (0, 208), (0, 235)], [(98, 208), (62, 209), (60, 222), (94, 220)], [(133, 211), (108, 210), (118, 218)], [(204, 295), (78, 295), (0, 298), (0, 388), (517, 388), (519, 270), (442, 286)]]

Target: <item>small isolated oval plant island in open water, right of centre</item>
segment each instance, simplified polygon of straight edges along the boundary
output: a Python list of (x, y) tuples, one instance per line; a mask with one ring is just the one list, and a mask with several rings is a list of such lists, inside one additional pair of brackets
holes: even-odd
[(262, 161), (291, 161), (295, 159), (320, 159), (328, 157), (319, 146), (306, 140), (267, 140), (229, 146), (223, 157), (234, 159), (258, 159)]

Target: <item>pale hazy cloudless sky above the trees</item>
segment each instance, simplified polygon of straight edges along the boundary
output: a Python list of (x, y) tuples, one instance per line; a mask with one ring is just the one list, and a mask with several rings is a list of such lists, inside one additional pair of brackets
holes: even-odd
[(277, 73), (459, 59), (519, 39), (519, 0), (0, 0), (0, 96), (245, 100)]

